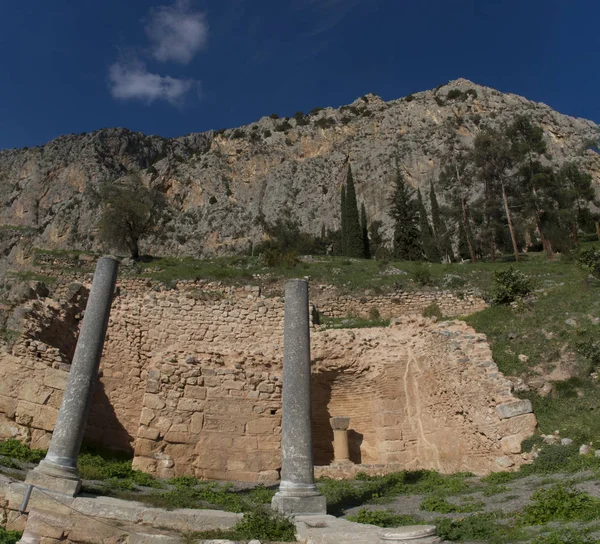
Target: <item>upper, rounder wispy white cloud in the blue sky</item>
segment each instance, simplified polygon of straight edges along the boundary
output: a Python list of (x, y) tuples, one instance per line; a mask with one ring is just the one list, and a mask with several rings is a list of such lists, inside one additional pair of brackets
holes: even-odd
[(158, 61), (188, 64), (206, 44), (208, 24), (204, 13), (193, 11), (189, 0), (153, 8), (145, 21), (152, 56)]

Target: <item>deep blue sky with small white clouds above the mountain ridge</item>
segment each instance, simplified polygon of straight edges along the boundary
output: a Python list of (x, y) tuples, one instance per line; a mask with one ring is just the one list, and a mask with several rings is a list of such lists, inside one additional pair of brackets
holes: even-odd
[(162, 136), (465, 77), (600, 123), (598, 0), (0, 2), (0, 149)]

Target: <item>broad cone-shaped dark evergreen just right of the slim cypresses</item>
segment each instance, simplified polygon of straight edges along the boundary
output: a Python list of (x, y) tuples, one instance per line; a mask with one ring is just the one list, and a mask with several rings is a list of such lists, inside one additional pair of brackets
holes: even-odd
[(394, 258), (405, 261), (422, 260), (423, 247), (414, 201), (411, 200), (411, 193), (399, 169), (396, 172), (395, 189), (390, 204), (390, 215), (394, 219)]

